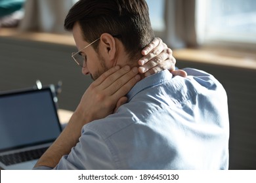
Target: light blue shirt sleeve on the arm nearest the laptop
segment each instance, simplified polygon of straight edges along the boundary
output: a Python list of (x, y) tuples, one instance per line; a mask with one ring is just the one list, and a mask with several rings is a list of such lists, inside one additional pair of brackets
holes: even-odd
[[(117, 169), (114, 148), (104, 134), (94, 129), (83, 127), (79, 142), (70, 154), (63, 156), (54, 169)], [(37, 167), (36, 169), (49, 169)]]

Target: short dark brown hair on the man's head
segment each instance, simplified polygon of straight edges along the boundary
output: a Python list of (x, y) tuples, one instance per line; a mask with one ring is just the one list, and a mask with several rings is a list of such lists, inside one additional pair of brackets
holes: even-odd
[(144, 0), (80, 0), (68, 12), (64, 28), (72, 31), (75, 22), (79, 22), (87, 42), (95, 41), (102, 33), (119, 35), (129, 58), (138, 56), (154, 38)]

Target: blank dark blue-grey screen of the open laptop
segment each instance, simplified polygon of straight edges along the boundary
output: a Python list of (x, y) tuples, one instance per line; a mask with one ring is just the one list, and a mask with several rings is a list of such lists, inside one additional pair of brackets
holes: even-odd
[(52, 142), (60, 132), (50, 88), (0, 94), (0, 152)]

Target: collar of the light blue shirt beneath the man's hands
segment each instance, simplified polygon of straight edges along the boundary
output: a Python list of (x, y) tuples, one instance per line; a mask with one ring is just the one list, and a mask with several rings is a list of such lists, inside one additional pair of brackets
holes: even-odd
[(143, 78), (142, 80), (137, 82), (135, 86), (133, 86), (129, 93), (127, 93), (128, 101), (131, 101), (131, 99), (142, 90), (145, 90), (146, 88), (151, 88), (152, 86), (157, 86), (162, 82), (171, 80), (171, 78), (173, 78), (173, 75), (166, 69), (161, 71), (160, 73), (156, 73), (154, 75)]

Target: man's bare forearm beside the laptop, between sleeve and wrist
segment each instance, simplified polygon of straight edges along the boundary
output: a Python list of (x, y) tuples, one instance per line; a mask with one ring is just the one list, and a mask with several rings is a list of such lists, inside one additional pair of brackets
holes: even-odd
[(41, 156), (35, 167), (56, 167), (62, 156), (70, 153), (72, 147), (77, 144), (81, 136), (81, 128), (89, 122), (89, 120), (85, 122), (81, 119), (83, 118), (77, 112), (74, 112), (64, 131), (62, 131), (58, 139), (49, 147), (45, 154)]

